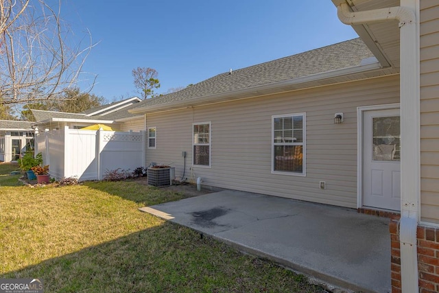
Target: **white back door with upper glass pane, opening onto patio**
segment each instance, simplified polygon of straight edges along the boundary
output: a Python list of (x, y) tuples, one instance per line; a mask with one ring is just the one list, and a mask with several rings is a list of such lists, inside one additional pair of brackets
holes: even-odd
[(363, 116), (363, 206), (401, 209), (399, 108)]

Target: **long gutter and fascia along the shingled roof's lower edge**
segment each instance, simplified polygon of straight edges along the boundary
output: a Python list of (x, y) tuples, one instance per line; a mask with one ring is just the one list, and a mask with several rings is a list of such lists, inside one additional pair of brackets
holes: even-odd
[[(258, 95), (261, 95), (261, 91), (272, 91), (272, 93), (276, 93), (276, 91), (278, 91), (278, 89), (283, 88), (285, 86), (290, 86), (290, 85), (295, 85), (295, 84), (303, 84), (306, 82), (315, 82), (317, 80), (336, 78), (336, 77), (342, 76), (342, 75), (351, 75), (354, 73), (362, 73), (365, 71), (371, 71), (371, 70), (381, 69), (381, 68), (382, 68), (381, 65), (379, 65), (378, 62), (375, 62), (375, 63), (368, 64), (368, 65), (359, 65), (359, 66), (355, 66), (355, 67), (348, 67), (348, 68), (344, 68), (344, 69), (337, 69), (337, 70), (326, 71), (326, 72), (322, 72), (322, 73), (316, 73), (316, 74), (312, 74), (312, 75), (303, 76), (300, 78), (294, 78), (292, 80), (283, 80), (281, 82), (274, 82), (272, 84), (263, 84), (263, 85), (259, 85), (259, 86), (252, 86), (252, 87), (246, 88), (246, 89), (240, 89), (240, 90), (236, 90), (236, 91), (228, 91), (226, 93), (206, 95), (204, 97), (197, 97), (194, 99), (185, 99), (182, 101), (167, 103), (167, 104), (157, 104), (157, 105), (146, 106), (146, 107), (141, 107), (141, 108), (134, 108), (134, 109), (128, 110), (128, 112), (135, 113), (135, 114), (137, 114), (137, 113), (151, 113), (151, 112), (154, 112), (156, 110), (163, 110), (164, 108), (169, 108), (169, 106), (185, 107), (185, 106), (191, 106), (191, 104), (195, 101), (208, 103), (208, 102), (211, 102), (213, 100), (222, 99), (222, 98), (231, 97), (231, 96), (237, 96), (237, 95), (249, 95), (250, 94), (250, 95), (254, 95), (256, 97)], [(266, 93), (264, 93), (264, 94), (266, 94)]]

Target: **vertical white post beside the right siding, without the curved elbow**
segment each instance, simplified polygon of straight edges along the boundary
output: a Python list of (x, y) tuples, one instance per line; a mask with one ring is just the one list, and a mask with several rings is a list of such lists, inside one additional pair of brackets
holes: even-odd
[(419, 0), (401, 0), (416, 15), (400, 23), (401, 60), (401, 246), (402, 292), (418, 292), (416, 228), (420, 220)]

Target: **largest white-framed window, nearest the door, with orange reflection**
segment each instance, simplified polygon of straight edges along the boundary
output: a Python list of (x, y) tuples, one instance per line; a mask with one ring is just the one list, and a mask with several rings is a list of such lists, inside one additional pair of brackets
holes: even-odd
[(305, 176), (305, 113), (272, 116), (272, 173)]

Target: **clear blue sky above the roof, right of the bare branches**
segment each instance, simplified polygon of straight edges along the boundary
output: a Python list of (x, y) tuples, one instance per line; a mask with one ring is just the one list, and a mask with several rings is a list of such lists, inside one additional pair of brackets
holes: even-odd
[(97, 44), (84, 71), (109, 102), (137, 95), (131, 71), (152, 67), (161, 88), (356, 38), (331, 0), (64, 0), (75, 34)]

